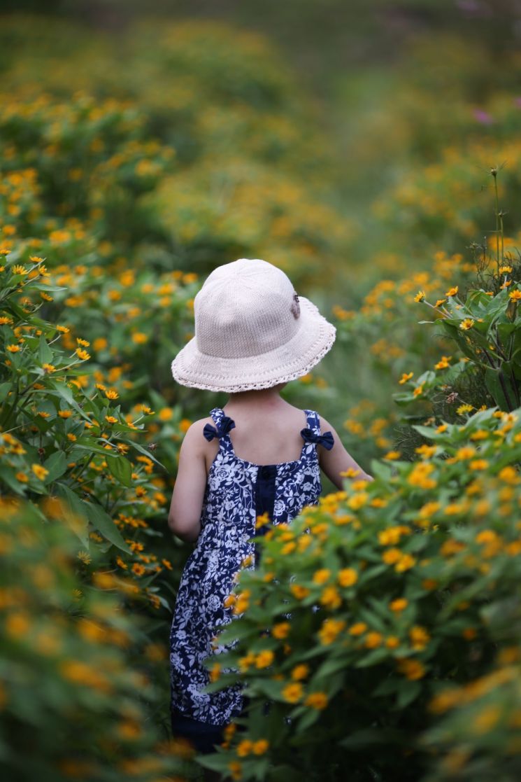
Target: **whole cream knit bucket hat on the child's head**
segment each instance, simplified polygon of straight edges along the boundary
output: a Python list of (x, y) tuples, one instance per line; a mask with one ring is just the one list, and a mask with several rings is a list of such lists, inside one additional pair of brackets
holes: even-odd
[(182, 386), (248, 391), (302, 377), (334, 343), (336, 328), (284, 271), (259, 258), (217, 267), (194, 299), (195, 336), (172, 361)]

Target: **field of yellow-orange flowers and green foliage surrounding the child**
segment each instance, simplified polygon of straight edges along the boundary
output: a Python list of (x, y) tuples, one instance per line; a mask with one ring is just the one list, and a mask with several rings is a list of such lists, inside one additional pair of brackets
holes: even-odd
[[(339, 164), (259, 33), (15, 14), (0, 41), (2, 779), (517, 782), (519, 55), (499, 88), (469, 41), (411, 45)], [(239, 257), (337, 326), (284, 395), (375, 480), (244, 561), (209, 688), (238, 672), (248, 712), (203, 757), (170, 731), (190, 546), (166, 520), (184, 432), (225, 397), (170, 362)]]

